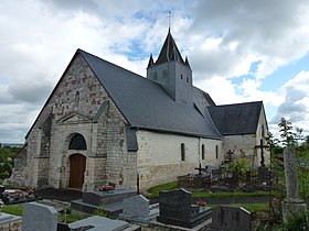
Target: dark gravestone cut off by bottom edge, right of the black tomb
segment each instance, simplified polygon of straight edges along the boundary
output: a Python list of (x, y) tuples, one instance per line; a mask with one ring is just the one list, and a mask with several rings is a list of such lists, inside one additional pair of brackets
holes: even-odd
[(242, 207), (220, 206), (212, 211), (212, 228), (224, 231), (251, 231), (251, 212)]

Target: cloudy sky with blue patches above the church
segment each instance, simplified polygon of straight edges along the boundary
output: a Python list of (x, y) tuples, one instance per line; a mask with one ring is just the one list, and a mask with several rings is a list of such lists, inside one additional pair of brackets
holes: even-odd
[(77, 48), (146, 76), (169, 26), (216, 105), (263, 100), (275, 136), (280, 118), (309, 135), (308, 12), (303, 0), (1, 0), (0, 143), (24, 142)]

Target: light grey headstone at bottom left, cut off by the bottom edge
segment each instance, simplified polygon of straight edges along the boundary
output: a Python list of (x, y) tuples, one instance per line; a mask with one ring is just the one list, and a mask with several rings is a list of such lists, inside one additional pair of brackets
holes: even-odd
[(57, 211), (46, 205), (29, 202), (24, 205), (22, 231), (56, 231)]

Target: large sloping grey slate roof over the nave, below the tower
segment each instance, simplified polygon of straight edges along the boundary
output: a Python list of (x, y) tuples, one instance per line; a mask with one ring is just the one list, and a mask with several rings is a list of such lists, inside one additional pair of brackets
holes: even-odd
[(175, 102), (157, 82), (77, 50), (132, 128), (222, 139), (209, 113)]

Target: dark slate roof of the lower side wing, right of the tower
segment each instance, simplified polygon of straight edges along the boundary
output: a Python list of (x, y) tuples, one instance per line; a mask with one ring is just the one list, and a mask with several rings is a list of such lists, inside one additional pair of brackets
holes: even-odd
[(263, 101), (210, 106), (211, 118), (222, 135), (255, 134)]

